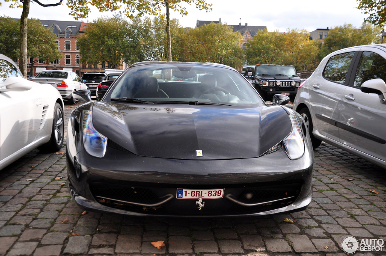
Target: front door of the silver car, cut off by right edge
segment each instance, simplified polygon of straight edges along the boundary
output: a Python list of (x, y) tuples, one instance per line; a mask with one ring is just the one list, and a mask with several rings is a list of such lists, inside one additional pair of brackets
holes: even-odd
[(386, 104), (378, 94), (363, 93), (362, 83), (375, 78), (386, 81), (386, 53), (380, 49), (362, 48), (355, 79), (347, 86), (340, 107), (340, 142), (349, 147), (386, 160)]

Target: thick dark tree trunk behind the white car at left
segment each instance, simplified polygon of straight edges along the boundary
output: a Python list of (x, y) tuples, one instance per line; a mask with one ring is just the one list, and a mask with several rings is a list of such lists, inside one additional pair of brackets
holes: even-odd
[(30, 0), (23, 1), (22, 17), (20, 18), (20, 56), (19, 69), (22, 75), (27, 78), (27, 22)]

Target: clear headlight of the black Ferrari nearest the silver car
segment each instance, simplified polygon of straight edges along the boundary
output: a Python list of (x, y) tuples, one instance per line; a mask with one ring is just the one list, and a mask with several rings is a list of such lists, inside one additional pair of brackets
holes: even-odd
[(289, 159), (295, 160), (304, 154), (304, 141), (301, 127), (294, 114), (289, 115), (292, 124), (292, 132), (283, 140), (285, 152)]

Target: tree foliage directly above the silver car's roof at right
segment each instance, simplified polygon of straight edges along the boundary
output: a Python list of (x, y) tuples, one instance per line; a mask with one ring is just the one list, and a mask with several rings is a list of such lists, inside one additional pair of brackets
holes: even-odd
[(320, 59), (331, 52), (347, 47), (379, 43), (379, 29), (366, 22), (361, 29), (357, 29), (351, 24), (344, 24), (329, 30), (328, 37), (320, 49)]

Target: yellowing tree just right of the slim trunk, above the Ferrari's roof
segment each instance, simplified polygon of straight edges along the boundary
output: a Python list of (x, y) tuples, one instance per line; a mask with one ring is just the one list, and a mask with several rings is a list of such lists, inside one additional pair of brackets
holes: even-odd
[(242, 65), (242, 36), (226, 24), (210, 23), (175, 31), (172, 49), (176, 61), (214, 62)]

